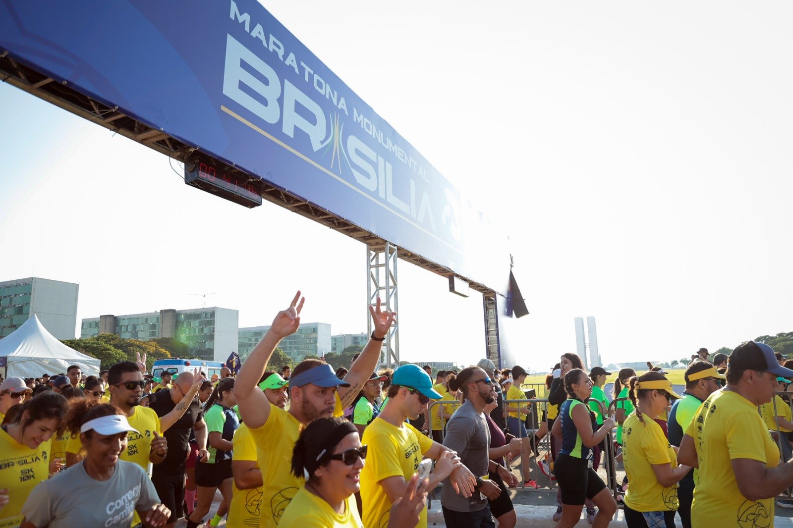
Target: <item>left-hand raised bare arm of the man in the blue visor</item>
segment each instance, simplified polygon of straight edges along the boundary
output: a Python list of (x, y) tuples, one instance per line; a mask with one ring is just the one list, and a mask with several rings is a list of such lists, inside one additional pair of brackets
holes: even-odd
[(294, 334), (300, 327), (300, 312), (304, 302), (305, 298), (301, 298), (298, 291), (292, 303), (289, 304), (289, 308), (278, 312), (270, 325), (270, 330), (254, 347), (251, 355), (239, 369), (234, 384), (234, 395), (237, 397), (237, 405), (239, 405), (239, 416), (251, 429), (262, 427), (270, 417), (270, 402), (259, 388), (259, 380), (267, 369), (267, 363), (270, 362), (270, 357), (273, 355), (275, 347), (278, 346), (278, 342), (287, 335)]

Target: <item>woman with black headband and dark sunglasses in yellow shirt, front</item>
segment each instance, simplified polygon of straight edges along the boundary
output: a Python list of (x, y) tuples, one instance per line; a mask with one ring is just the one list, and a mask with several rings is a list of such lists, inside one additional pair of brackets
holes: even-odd
[[(292, 473), (305, 485), (286, 507), (278, 528), (363, 528), (353, 494), (361, 488), (366, 446), (358, 430), (341, 418), (314, 420), (302, 432), (292, 455)], [(427, 480), (413, 476), (391, 508), (389, 528), (416, 526), (427, 500)]]

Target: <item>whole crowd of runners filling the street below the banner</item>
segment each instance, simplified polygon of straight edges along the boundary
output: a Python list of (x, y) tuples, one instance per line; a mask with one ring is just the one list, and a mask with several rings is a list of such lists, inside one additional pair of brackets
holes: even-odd
[[(537, 471), (556, 481), (558, 526), (584, 508), (607, 526), (619, 507), (631, 527), (767, 527), (793, 486), (793, 365), (764, 343), (697, 354), (682, 394), (648, 364), (616, 373), (609, 398), (611, 373), (576, 354), (527, 393), (525, 369), (488, 359), (434, 381), (426, 365), (377, 372), (396, 316), (378, 302), (349, 368), (274, 372), (303, 304), (298, 292), (236, 377), (155, 381), (138, 358), (2, 381), (0, 528), (427, 526), (438, 488), (449, 528), (511, 528), (508, 488), (538, 488)], [(624, 478), (604, 482), (601, 461), (622, 461)]]

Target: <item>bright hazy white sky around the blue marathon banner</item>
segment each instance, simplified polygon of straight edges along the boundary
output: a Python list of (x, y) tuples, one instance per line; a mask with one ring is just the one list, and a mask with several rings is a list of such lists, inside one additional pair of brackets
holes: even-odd
[[(263, 2), (511, 236), (546, 369), (595, 316), (605, 362), (793, 330), (788, 2)], [(366, 249), (0, 86), (0, 280), (78, 317), (206, 304), (366, 331)], [(400, 262), (403, 359), (475, 362), (481, 296)]]

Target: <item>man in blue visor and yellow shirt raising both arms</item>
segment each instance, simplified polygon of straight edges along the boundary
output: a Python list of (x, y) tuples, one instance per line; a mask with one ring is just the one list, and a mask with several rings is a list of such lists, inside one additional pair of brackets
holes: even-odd
[(258, 385), (278, 342), (300, 327), (304, 302), (297, 292), (289, 308), (278, 312), (270, 330), (243, 363), (234, 387), (239, 415), (256, 442), (262, 468), (262, 528), (278, 526), (283, 511), (303, 486), (304, 480), (291, 473), (292, 451), (301, 427), (317, 418), (341, 416), (342, 410), (352, 404), (377, 368), (382, 342), (396, 317), (394, 312), (381, 311), (379, 299), (377, 308), (370, 306), (374, 331), (344, 380), (336, 377), (330, 365), (317, 359), (297, 365), (289, 378), (291, 404), (285, 411), (270, 404)]

